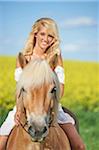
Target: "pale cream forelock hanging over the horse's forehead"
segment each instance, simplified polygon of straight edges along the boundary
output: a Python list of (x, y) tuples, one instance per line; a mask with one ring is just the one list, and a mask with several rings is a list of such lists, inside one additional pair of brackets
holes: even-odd
[(41, 85), (52, 83), (54, 79), (54, 73), (46, 60), (33, 59), (31, 62), (23, 69), (23, 72), (18, 81), (17, 88), (21, 89), (24, 87), (28, 89), (30, 87), (37, 88)]

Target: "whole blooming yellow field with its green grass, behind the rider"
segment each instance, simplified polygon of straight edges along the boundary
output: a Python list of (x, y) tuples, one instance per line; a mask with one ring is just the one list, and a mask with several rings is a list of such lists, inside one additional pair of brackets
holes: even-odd
[[(77, 115), (87, 150), (99, 149), (99, 63), (64, 61), (61, 103)], [(0, 125), (15, 104), (15, 57), (0, 56)]]

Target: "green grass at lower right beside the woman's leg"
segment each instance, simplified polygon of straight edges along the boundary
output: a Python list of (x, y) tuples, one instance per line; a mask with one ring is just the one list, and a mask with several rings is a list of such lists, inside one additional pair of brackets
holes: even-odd
[(87, 150), (99, 150), (99, 112), (78, 110), (80, 134)]

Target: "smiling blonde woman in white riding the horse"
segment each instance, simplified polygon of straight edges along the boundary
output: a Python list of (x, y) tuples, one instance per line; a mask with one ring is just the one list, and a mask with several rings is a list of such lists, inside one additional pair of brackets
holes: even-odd
[[(46, 59), (49, 62), (50, 67), (58, 76), (61, 89), (60, 97), (62, 97), (64, 93), (64, 69), (59, 43), (58, 29), (54, 20), (50, 18), (41, 18), (34, 23), (22, 54), (25, 57), (24, 65), (29, 63), (33, 57)], [(15, 69), (16, 81), (19, 80), (22, 69), (23, 67), (20, 65), (19, 59), (17, 59)], [(9, 112), (7, 119), (0, 129), (0, 150), (4, 150), (8, 135), (15, 123), (16, 125), (19, 124), (18, 120), (20, 118), (20, 113), (21, 110), (17, 107), (16, 99), (16, 107)], [(74, 127), (74, 119), (69, 114), (64, 113), (61, 105), (59, 105), (57, 119), (58, 123), (67, 134), (72, 149), (85, 150), (83, 141)]]

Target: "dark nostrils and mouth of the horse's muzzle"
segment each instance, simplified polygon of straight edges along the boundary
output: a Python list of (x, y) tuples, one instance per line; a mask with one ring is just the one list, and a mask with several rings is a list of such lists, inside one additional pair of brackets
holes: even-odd
[(42, 128), (34, 128), (34, 126), (30, 126), (28, 133), (32, 137), (33, 142), (42, 142), (48, 134), (48, 127), (44, 126)]

